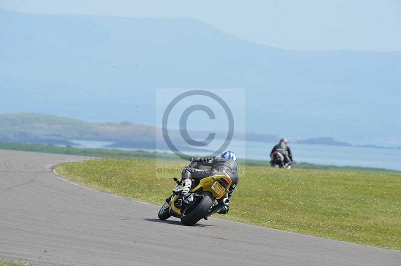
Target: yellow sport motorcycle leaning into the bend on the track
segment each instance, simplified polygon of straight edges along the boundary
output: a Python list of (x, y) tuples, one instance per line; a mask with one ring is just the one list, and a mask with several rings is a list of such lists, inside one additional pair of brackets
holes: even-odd
[(189, 193), (192, 193), (193, 200), (189, 204), (183, 200), (181, 182), (176, 177), (173, 179), (177, 185), (159, 210), (158, 216), (161, 220), (174, 216), (180, 218), (184, 225), (193, 225), (202, 218), (208, 219), (229, 204), (228, 195), (232, 182), (229, 176), (216, 174), (202, 178), (199, 182), (192, 180)]

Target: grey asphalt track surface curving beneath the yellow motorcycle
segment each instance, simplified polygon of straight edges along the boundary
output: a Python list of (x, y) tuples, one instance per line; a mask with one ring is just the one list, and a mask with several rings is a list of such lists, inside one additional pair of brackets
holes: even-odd
[(401, 265), (401, 252), (387, 249), (215, 218), (191, 227), (159, 221), (158, 206), (76, 185), (50, 167), (83, 159), (0, 150), (0, 257), (40, 265)]

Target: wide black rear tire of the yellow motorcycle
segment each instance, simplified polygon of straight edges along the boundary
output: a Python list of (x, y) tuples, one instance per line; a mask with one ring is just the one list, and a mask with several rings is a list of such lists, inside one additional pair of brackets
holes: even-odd
[(199, 202), (195, 206), (184, 209), (181, 212), (181, 223), (183, 225), (193, 225), (205, 217), (215, 200), (212, 193), (209, 191), (200, 193), (200, 196), (202, 198), (197, 199)]

